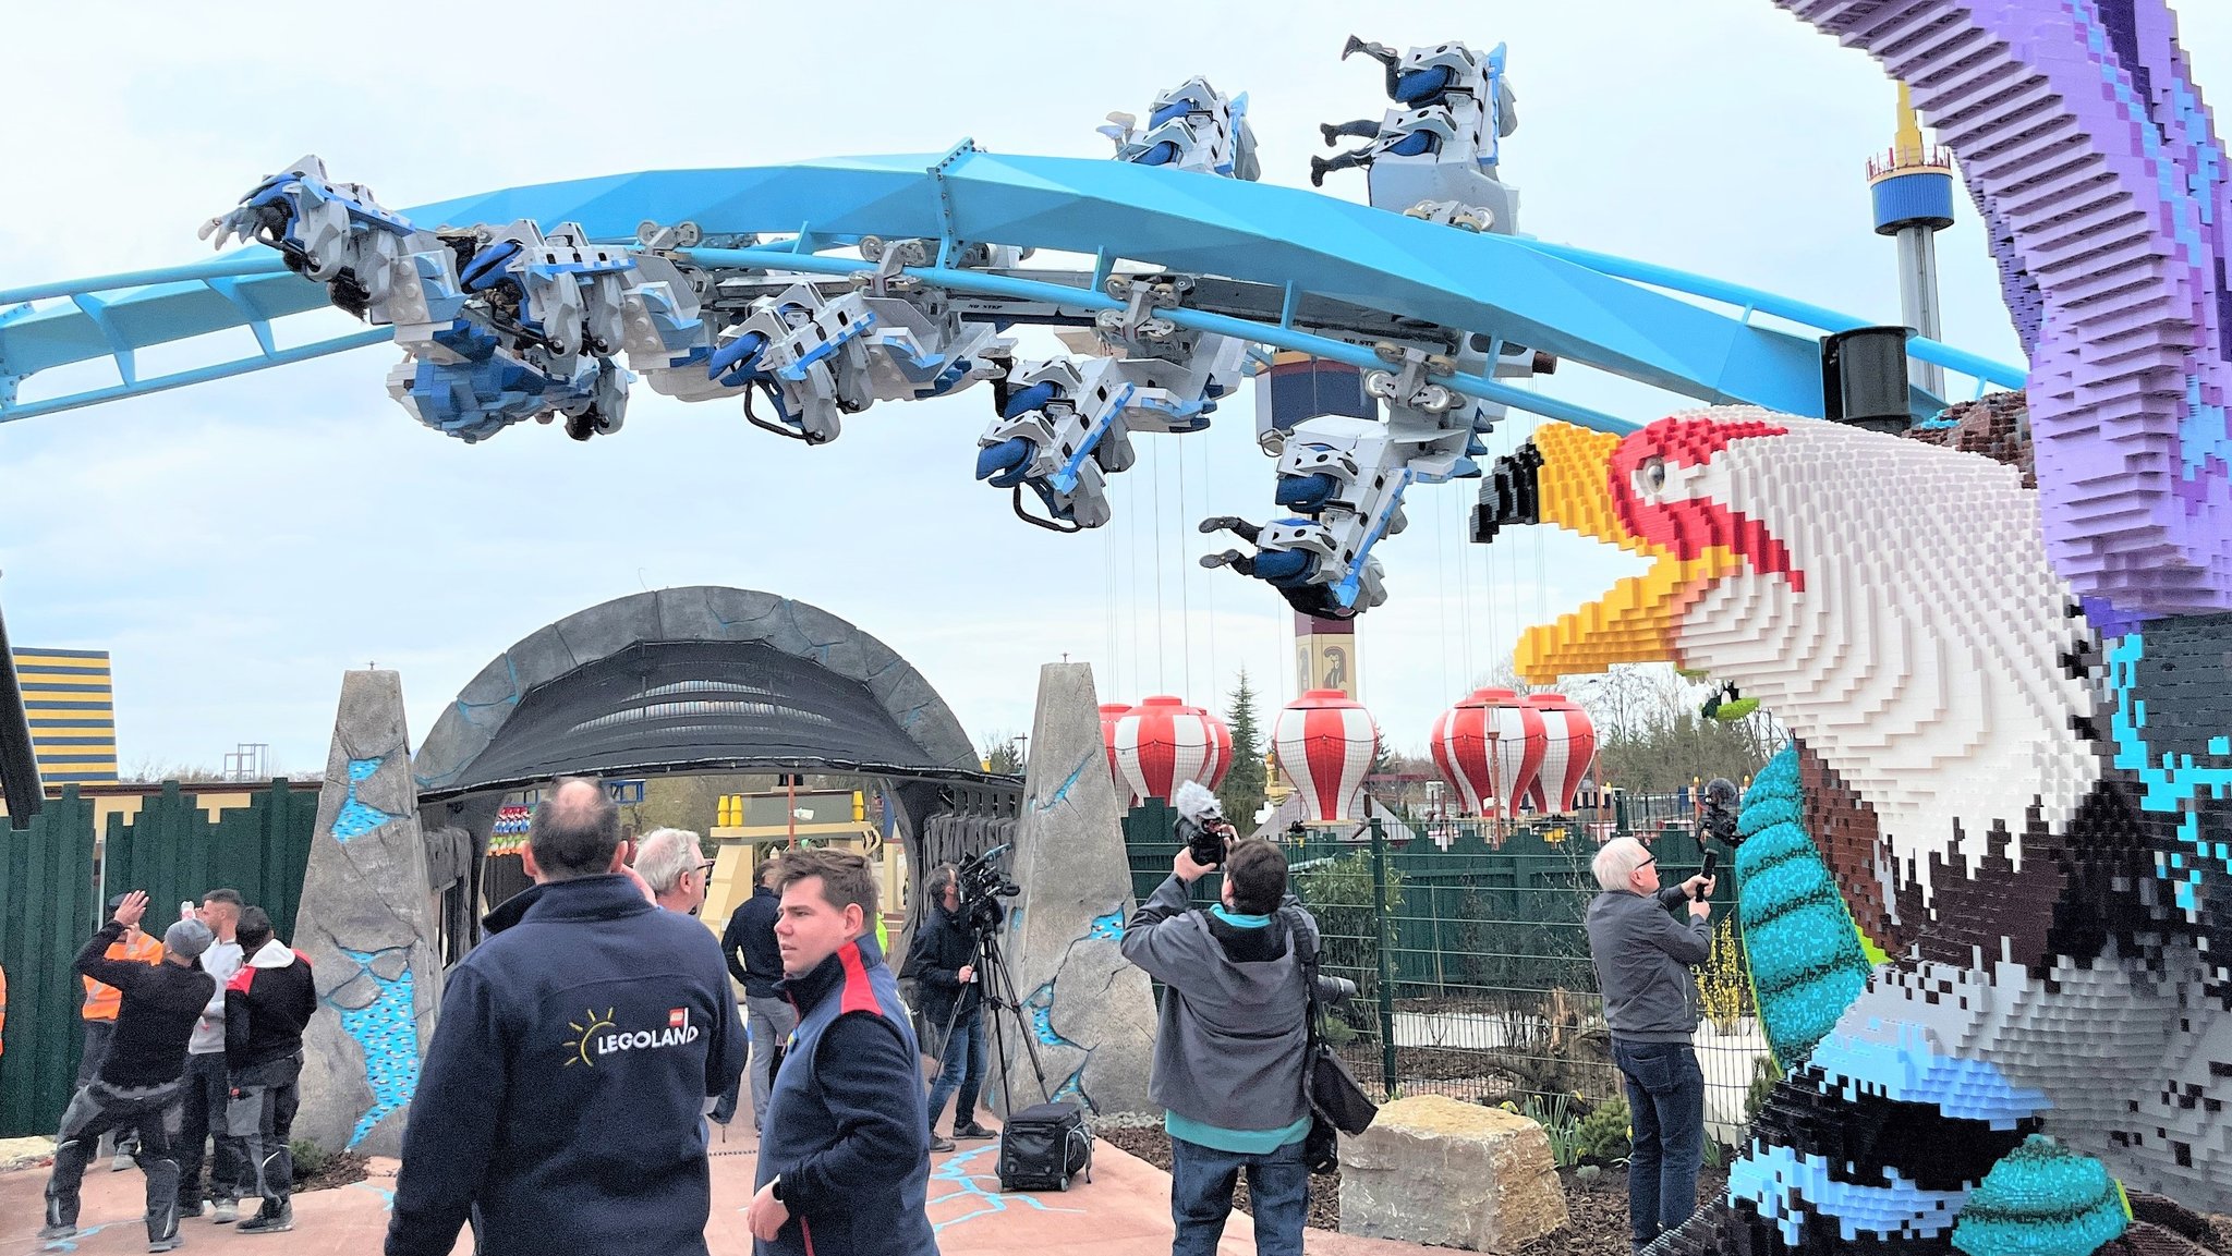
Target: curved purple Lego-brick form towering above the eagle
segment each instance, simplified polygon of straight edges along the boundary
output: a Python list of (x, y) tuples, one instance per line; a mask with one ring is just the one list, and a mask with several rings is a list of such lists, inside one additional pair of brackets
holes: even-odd
[(1913, 87), (2031, 355), (2053, 564), (2125, 613), (2232, 609), (2223, 145), (2163, 0), (1774, 0)]

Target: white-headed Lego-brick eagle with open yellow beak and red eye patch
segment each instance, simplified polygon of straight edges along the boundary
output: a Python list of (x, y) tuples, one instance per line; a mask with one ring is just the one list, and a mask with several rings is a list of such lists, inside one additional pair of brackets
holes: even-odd
[(1797, 741), (1739, 825), (1788, 1075), (1670, 1249), (2089, 1252), (2109, 1176), (2232, 1207), (2232, 616), (2103, 634), (2020, 468), (1757, 408), (1545, 426), (1498, 475), (1484, 522), (1649, 562), (1522, 676), (1672, 660)]

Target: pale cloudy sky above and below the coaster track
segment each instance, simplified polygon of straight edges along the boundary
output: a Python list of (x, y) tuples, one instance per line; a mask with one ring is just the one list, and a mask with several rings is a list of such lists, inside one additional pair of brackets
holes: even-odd
[[(1866, 158), (1893, 138), (1877, 65), (1768, 0), (1219, 4), (1154, 25), (1103, 4), (393, 4), (366, 27), (299, 7), (283, 27), (185, 4), (47, 4), (0, 47), (16, 100), (0, 288), (205, 257), (194, 230), (301, 154), (391, 207), (661, 170), (848, 154), (1107, 156), (1094, 127), (1203, 74), (1248, 91), (1263, 178), (1306, 185), (1317, 123), (1377, 116), (1395, 47), (1509, 45), (1504, 176), (1527, 234), (1899, 321), (1893, 243), (1868, 230)], [(1270, 16), (1274, 13), (1274, 20)], [(420, 18), (420, 20), (413, 20)], [(2187, 0), (2196, 80), (2232, 98), (2232, 7)], [(1326, 194), (1362, 201), (1362, 174)], [(1937, 236), (1944, 339), (2018, 361), (1966, 199)], [(348, 330), (281, 326), (283, 344)], [(141, 355), (143, 375), (239, 341)], [(1024, 341), (1051, 355), (1054, 344)], [(1272, 513), (1252, 402), (1201, 435), (1134, 437), (1116, 518), (1051, 535), (971, 480), (987, 388), (877, 404), (804, 448), (732, 402), (638, 388), (627, 428), (574, 444), (522, 424), (480, 446), (384, 390), (388, 346), (0, 424), (0, 607), (18, 645), (114, 656), (121, 759), (219, 765), (268, 743), (319, 772), (341, 672), (402, 672), (413, 741), (513, 640), (643, 589), (737, 584), (824, 607), (908, 658), (989, 741), (1029, 732), (1040, 663), (1094, 665), (1103, 701), (1221, 705), (1241, 667), (1295, 696), (1292, 616), (1261, 582), (1201, 571), (1203, 515)], [(114, 381), (58, 370), (25, 397)], [(1547, 393), (1647, 422), (1683, 402), (1562, 370)], [(1250, 390), (1252, 393), (1252, 390)], [(1524, 439), (1513, 415), (1491, 453)], [(1382, 544), (1388, 602), (1359, 620), (1364, 705), (1420, 750), (1529, 622), (1629, 567), (1529, 529), (1464, 542), (1473, 484), (1408, 495)], [(1216, 544), (1214, 549), (1221, 549)]]

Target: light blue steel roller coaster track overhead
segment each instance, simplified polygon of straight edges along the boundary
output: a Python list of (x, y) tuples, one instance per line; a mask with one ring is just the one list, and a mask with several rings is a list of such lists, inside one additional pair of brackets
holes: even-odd
[[(1589, 250), (1451, 230), (1297, 187), (1243, 183), (1116, 161), (1002, 156), (960, 147), (935, 156), (835, 158), (741, 170), (672, 170), (507, 187), (404, 210), (422, 225), (578, 221), (591, 239), (629, 241), (645, 219), (692, 221), (708, 236), (788, 236), (779, 245), (699, 250), (701, 263), (848, 272), (866, 265), (817, 257), (862, 236), (995, 241), (1152, 263), (1283, 286), (1295, 297), (1330, 297), (1391, 315), (1466, 328), (1524, 344), (1699, 402), (1750, 402), (1797, 415), (1821, 413), (1821, 361), (1812, 337), (1752, 323), (1772, 315), (1817, 332), (1864, 319), (1803, 301), (1683, 274)], [(944, 261), (944, 259), (942, 259)], [(929, 281), (1045, 299), (1051, 283), (946, 265)], [(1098, 292), (1060, 290), (1065, 299)], [(1701, 308), (1705, 297), (1739, 312)], [(58, 301), (67, 299), (67, 301)], [(51, 301), (40, 306), (38, 301)], [(45, 283), (0, 292), (0, 422), (27, 419), (266, 370), (382, 344), (368, 328), (275, 348), (272, 321), (326, 308), (324, 288), (279, 265), (270, 250), (241, 250), (194, 265)], [(1219, 330), (1359, 361), (1368, 350), (1288, 323), (1252, 323), (1178, 310)], [(1212, 326), (1214, 323), (1214, 326)], [(259, 352), (143, 377), (134, 352), (156, 344), (248, 328)], [(2022, 368), (1935, 341), (1911, 352), (1971, 375), (1978, 386), (2020, 386)], [(107, 357), (121, 384), (18, 402), (18, 384), (42, 370)], [(1627, 428), (1632, 424), (1493, 379), (1457, 379), (1464, 393), (1513, 408)], [(1917, 413), (1935, 399), (1917, 395)]]

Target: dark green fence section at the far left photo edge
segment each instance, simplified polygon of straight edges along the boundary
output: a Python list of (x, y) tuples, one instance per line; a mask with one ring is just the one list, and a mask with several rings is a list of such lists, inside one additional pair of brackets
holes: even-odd
[(54, 1133), (78, 1073), (78, 975), (94, 930), (94, 803), (65, 785), (25, 830), (0, 821), (0, 966), (7, 968), (7, 1053), (0, 1055), (0, 1138)]

